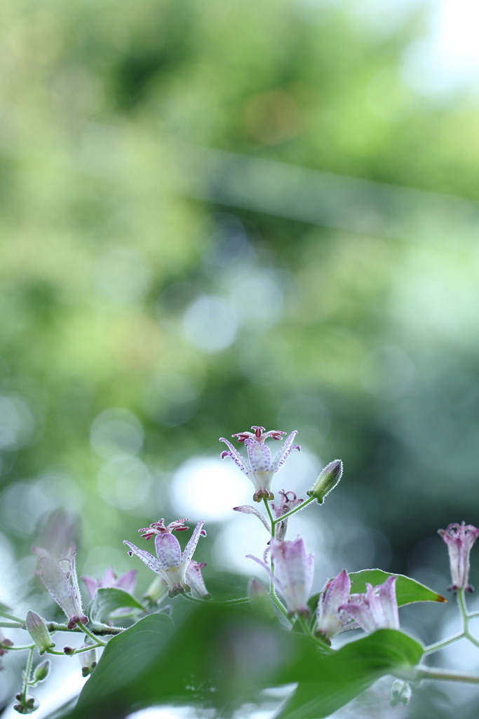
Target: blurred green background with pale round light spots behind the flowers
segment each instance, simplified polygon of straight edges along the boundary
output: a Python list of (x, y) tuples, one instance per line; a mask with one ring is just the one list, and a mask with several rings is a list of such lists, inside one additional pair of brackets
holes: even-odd
[[(479, 111), (421, 74), (442, 5), (2, 4), (1, 600), (41, 604), (29, 547), (57, 507), (98, 577), (178, 516), (188, 460), (194, 502), (237, 504), (233, 467), (208, 477), (256, 423), (299, 430), (287, 490), (345, 464), (310, 517), (318, 588), (371, 562), (445, 592), (435, 532), (479, 521)], [(222, 511), (207, 582), (241, 536)]]

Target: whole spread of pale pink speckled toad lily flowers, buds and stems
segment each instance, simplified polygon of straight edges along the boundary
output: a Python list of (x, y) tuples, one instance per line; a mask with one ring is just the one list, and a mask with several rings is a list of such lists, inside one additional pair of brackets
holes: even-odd
[[(293, 444), (297, 431), (292, 431), (284, 439), (279, 452), (273, 457), (269, 446), (265, 444), (266, 440), (281, 440), (287, 433), (279, 430), (266, 431), (264, 427), (256, 425), (251, 427), (251, 430), (232, 435), (236, 437), (238, 443), (244, 444), (247, 457), (243, 457), (238, 449), (224, 437), (221, 437), (220, 441), (223, 441), (228, 449), (221, 452), (220, 457), (221, 459), (225, 457), (233, 459), (241, 472), (254, 485), (253, 500), (255, 504), (242, 505), (233, 509), (240, 513), (256, 516), (266, 530), (268, 536), (267, 539), (266, 536), (264, 537), (262, 558), (259, 559), (252, 554), (248, 554), (247, 557), (265, 570), (270, 585), (268, 590), (259, 579), (252, 577), (248, 585), (248, 597), (234, 599), (232, 603), (249, 602), (251, 608), (261, 615), (264, 621), (271, 622), (277, 618), (277, 615), (282, 616), (282, 623), (289, 628), (294, 627), (295, 631), (305, 633), (309, 636), (308, 641), (316, 642), (317, 647), (320, 648), (318, 654), (321, 656), (330, 656), (334, 652), (331, 645), (335, 636), (351, 629), (361, 629), (366, 634), (387, 630), (389, 634), (386, 639), (384, 634), (376, 639), (381, 642), (385, 641), (386, 644), (392, 642), (393, 645), (394, 641), (399, 641), (399, 645), (401, 645), (405, 639), (404, 636), (397, 635), (400, 625), (396, 584), (399, 582), (400, 603), (404, 603), (404, 596), (409, 591), (405, 582), (414, 582), (414, 580), (399, 577), (396, 574), (379, 572), (379, 576), (382, 576), (384, 581), (379, 584), (376, 579), (374, 584), (366, 580), (378, 577), (378, 570), (366, 570), (366, 574), (357, 572), (351, 575), (346, 569), (343, 569), (326, 582), (319, 594), (312, 595), (315, 557), (307, 551), (302, 536), (297, 535), (296, 539), (286, 538), (289, 517), (313, 502), (322, 505), (327, 495), (340, 482), (343, 475), (343, 463), (340, 459), (335, 459), (327, 464), (311, 489), (305, 494), (306, 499), (299, 498), (293, 490), (279, 490), (273, 503), (274, 493), (272, 490), (276, 473), (283, 467), (293, 450), (300, 449), (299, 445)], [(141, 559), (141, 562), (144, 562), (155, 574), (154, 581), (142, 602), (128, 596), (134, 593), (137, 569), (130, 569), (129, 572), (118, 577), (111, 566), (106, 569), (101, 580), (88, 576), (82, 577), (92, 600), (87, 610), (88, 615), (92, 618), (91, 621), (83, 611), (75, 567), (75, 545), (71, 544), (59, 559), (52, 556), (46, 549), (39, 546), (32, 547), (34, 553), (39, 557), (37, 574), (65, 613), (68, 623), (66, 626), (47, 623), (33, 610), (29, 610), (25, 620), (4, 613), (3, 616), (9, 618), (11, 622), (3, 626), (26, 630), (34, 642), (30, 646), (14, 646), (11, 640), (5, 638), (0, 632), (0, 657), (10, 649), (25, 649), (30, 652), (27, 667), (23, 673), (23, 689), (17, 695), (18, 704), (15, 705), (19, 713), (31, 713), (34, 710), (37, 705), (36, 700), (34, 697), (28, 696), (27, 689), (44, 681), (50, 669), (48, 659), (43, 659), (37, 664), (37, 667), (33, 667), (34, 651), (40, 656), (45, 653), (60, 654), (54, 649), (55, 644), (52, 641), (51, 632), (75, 631), (87, 635), (83, 646), (75, 648), (65, 646), (63, 654), (67, 656), (78, 654), (83, 677), (88, 677), (95, 671), (98, 661), (101, 661), (101, 651), (106, 646), (108, 638), (124, 631), (124, 628), (134, 623), (140, 618), (140, 615), (151, 611), (157, 612), (159, 605), (167, 596), (173, 598), (180, 595), (200, 603), (210, 597), (203, 580), (202, 570), (205, 567), (205, 562), (197, 562), (193, 559), (200, 537), (206, 536), (203, 529), (204, 522), (197, 523), (190, 539), (186, 542), (185, 549), (182, 549), (180, 541), (177, 539), (176, 533), (189, 530), (189, 526), (186, 524), (188, 521), (183, 518), (170, 521), (167, 524), (164, 518), (161, 518), (159, 521), (152, 522), (148, 527), (139, 529), (142, 539), (153, 540), (156, 556), (129, 540), (124, 541), (129, 548), (130, 557), (135, 555)], [(452, 523), (446, 529), (440, 529), (439, 533), (449, 551), (452, 576), (450, 588), (458, 595), (463, 631), (457, 636), (425, 648), (425, 653), (439, 651), (442, 646), (451, 644), (452, 641), (457, 641), (460, 638), (467, 638), (475, 646), (479, 646), (479, 639), (475, 639), (469, 629), (469, 620), (478, 613), (468, 614), (464, 594), (466, 590), (473, 590), (469, 584), (470, 551), (478, 539), (479, 528), (470, 524), (466, 525), (465, 522)], [(414, 583), (417, 585), (417, 582)], [(435, 600), (445, 601), (444, 597), (434, 595), (434, 592), (427, 590), (427, 587), (417, 586), (422, 587), (423, 593), (424, 590), (429, 592), (429, 595), (435, 597)], [(213, 604), (213, 608), (214, 606)], [(172, 610), (170, 605), (162, 605), (162, 608), (159, 609), (159, 611), (170, 610)], [(113, 621), (118, 621), (121, 626), (112, 626)], [(367, 640), (366, 644), (371, 647), (374, 640)], [(424, 669), (421, 666), (419, 670), (424, 673), (425, 671), (429, 672), (430, 668)], [(401, 677), (401, 680), (396, 680), (393, 684), (391, 702), (394, 705), (407, 702), (411, 694), (411, 682), (414, 682), (417, 677), (420, 678), (419, 674), (414, 676), (408, 674), (406, 677), (403, 674), (397, 674), (396, 676)], [(432, 677), (432, 674), (429, 674), (429, 677)], [(436, 678), (444, 677), (445, 672), (441, 670)], [(455, 677), (447, 678), (454, 679)], [(473, 680), (477, 683), (479, 677), (473, 677)]]

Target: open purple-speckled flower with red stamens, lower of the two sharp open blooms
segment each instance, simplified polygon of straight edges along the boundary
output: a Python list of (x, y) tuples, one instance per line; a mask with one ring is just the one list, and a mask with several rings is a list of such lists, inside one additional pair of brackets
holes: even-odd
[(130, 557), (136, 554), (136, 557), (139, 557), (141, 562), (144, 562), (153, 572), (159, 574), (167, 582), (169, 587), (168, 595), (175, 597), (180, 592), (191, 591), (191, 587), (187, 583), (186, 572), (200, 536), (206, 536), (205, 530), (202, 529), (203, 524), (203, 521), (197, 523), (183, 552), (181, 551), (180, 542), (172, 535), (171, 531), (159, 531), (156, 533), (154, 546), (157, 550), (157, 557), (153, 557), (148, 551), (139, 549), (129, 541), (124, 541), (124, 544), (127, 544), (130, 548), (128, 553)]

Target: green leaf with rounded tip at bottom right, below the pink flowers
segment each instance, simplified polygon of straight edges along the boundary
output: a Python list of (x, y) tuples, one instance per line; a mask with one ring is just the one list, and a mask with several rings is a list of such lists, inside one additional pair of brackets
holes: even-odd
[(379, 629), (346, 644), (317, 659), (276, 719), (327, 717), (385, 674), (414, 667), (422, 652), (417, 641), (395, 629)]

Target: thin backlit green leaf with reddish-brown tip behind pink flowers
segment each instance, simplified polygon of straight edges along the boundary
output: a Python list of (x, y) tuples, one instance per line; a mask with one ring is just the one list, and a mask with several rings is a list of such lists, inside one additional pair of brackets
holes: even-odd
[[(404, 605), (414, 602), (447, 602), (445, 597), (437, 594), (437, 592), (429, 589), (429, 587), (421, 584), (421, 582), (411, 580), (411, 577), (406, 577), (404, 574), (383, 572), (382, 569), (361, 569), (361, 572), (350, 572), (349, 576), (351, 580), (351, 594), (362, 594), (362, 592), (366, 592), (366, 582), (376, 587), (386, 582), (388, 577), (397, 577), (396, 597), (399, 607), (404, 607)], [(308, 600), (308, 605), (313, 612), (316, 611), (319, 596), (319, 593), (315, 594)]]

